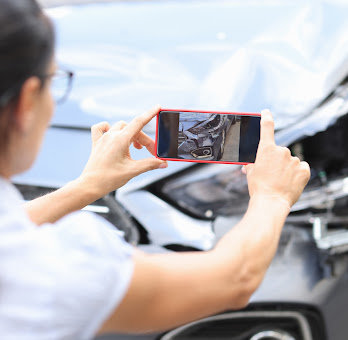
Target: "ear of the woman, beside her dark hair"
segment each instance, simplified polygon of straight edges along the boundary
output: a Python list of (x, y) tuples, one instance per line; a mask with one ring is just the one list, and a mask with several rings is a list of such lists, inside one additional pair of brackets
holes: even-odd
[(20, 132), (26, 133), (35, 122), (35, 107), (40, 98), (41, 81), (38, 77), (30, 77), (22, 85), (15, 108), (16, 126)]

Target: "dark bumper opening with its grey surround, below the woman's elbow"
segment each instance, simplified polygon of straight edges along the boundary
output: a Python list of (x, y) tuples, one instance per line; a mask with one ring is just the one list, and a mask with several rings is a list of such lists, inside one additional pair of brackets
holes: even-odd
[(212, 316), (179, 327), (161, 340), (317, 340), (294, 311), (245, 311)]

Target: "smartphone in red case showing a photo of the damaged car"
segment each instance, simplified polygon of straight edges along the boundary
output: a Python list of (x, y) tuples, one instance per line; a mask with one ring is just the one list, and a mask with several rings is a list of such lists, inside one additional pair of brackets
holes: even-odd
[(157, 115), (157, 157), (168, 161), (248, 164), (260, 141), (259, 113), (163, 109)]

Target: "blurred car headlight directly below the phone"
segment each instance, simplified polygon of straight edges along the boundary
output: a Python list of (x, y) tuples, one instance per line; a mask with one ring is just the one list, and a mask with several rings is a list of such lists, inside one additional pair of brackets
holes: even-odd
[(158, 189), (178, 209), (202, 219), (243, 214), (249, 201), (245, 175), (236, 165), (197, 164)]

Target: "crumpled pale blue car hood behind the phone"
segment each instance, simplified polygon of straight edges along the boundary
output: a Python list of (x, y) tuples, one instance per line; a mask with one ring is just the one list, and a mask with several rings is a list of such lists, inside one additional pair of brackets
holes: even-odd
[(332, 89), (328, 76), (348, 55), (347, 9), (343, 1), (302, 0), (50, 8), (58, 61), (77, 74), (54, 123), (129, 120), (160, 103), (247, 112), (268, 107), (276, 127), (285, 126)]

